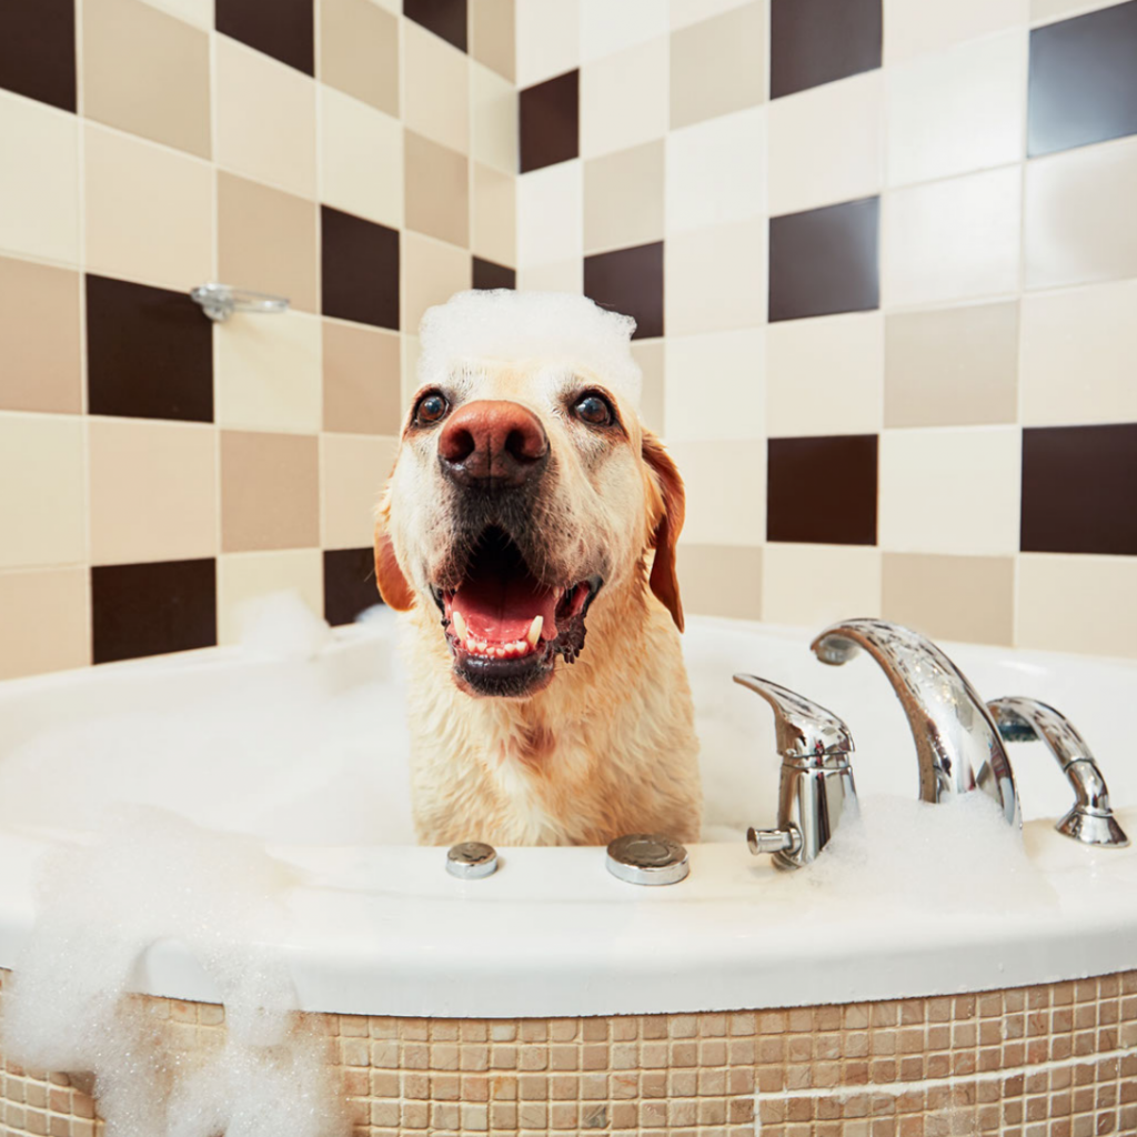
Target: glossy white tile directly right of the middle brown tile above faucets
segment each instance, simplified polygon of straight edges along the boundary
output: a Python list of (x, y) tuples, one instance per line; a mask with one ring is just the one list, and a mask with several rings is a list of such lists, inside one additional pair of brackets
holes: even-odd
[(886, 306), (997, 296), (1019, 287), (1018, 166), (897, 190), (885, 209)]

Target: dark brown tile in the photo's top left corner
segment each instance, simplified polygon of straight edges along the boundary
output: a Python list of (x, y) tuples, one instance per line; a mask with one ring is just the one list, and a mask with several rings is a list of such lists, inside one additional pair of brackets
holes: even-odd
[(0, 86), (74, 110), (75, 0), (8, 0), (0, 28)]

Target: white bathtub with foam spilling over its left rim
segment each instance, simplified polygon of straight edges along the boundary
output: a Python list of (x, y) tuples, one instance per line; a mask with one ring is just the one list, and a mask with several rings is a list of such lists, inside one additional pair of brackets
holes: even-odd
[[(504, 849), (496, 875), (459, 881), (443, 871), (437, 848), (274, 844), (271, 852), (302, 874), (279, 944), (300, 1007), (443, 1018), (714, 1011), (976, 991), (1137, 966), (1137, 849), (1095, 850), (1053, 831), (1072, 797), (1040, 745), (1011, 750), (1035, 898), (1018, 896), (1014, 881), (1009, 890), (999, 864), (972, 864), (964, 899), (955, 880), (953, 899), (939, 905), (956, 873), (943, 846), (938, 863), (921, 863), (920, 847), (898, 852), (897, 869), (908, 878), (899, 891), (895, 881), (819, 887), (813, 870), (777, 873), (769, 858), (749, 854), (742, 827), (775, 820), (778, 760), (771, 713), (731, 683), (733, 671), (773, 679), (846, 720), (863, 802), (915, 797), (907, 724), (883, 674), (868, 658), (825, 667), (808, 652), (810, 638), (811, 630), (690, 621), (708, 820), (731, 839), (691, 847), (682, 883), (622, 883), (606, 872), (600, 848)], [(944, 646), (985, 698), (1029, 695), (1064, 711), (1094, 748), (1114, 804), (1137, 805), (1137, 760), (1127, 745), (1137, 665)], [(208, 700), (296, 666), (218, 648), (10, 681), (0, 684), (0, 763), (52, 724)], [(390, 675), (391, 625), (341, 630), (305, 666), (333, 689)], [(388, 761), (400, 765), (402, 757)], [(400, 769), (390, 779), (405, 785)], [(75, 839), (42, 803), (13, 805), (0, 831), (2, 968), (15, 964), (33, 920), (36, 860), (52, 841)], [(1118, 814), (1137, 836), (1137, 810)], [(965, 898), (972, 891), (974, 904)], [(219, 1001), (177, 943), (155, 944), (135, 978), (148, 994)]]

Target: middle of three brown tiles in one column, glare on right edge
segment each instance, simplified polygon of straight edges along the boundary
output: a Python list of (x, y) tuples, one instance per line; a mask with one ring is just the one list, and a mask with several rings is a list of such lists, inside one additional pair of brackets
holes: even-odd
[(770, 319), (880, 307), (880, 199), (770, 218)]

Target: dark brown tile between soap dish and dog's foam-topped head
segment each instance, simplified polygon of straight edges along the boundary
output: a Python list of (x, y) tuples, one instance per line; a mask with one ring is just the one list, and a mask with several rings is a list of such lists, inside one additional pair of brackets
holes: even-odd
[(399, 233), (319, 207), (325, 316), (399, 327)]

